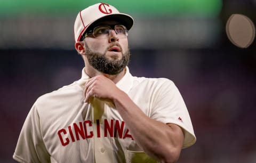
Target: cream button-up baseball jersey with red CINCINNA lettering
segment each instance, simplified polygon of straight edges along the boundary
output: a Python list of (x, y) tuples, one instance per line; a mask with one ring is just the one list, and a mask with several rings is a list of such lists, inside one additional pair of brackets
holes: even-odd
[[(21, 129), (15, 160), (156, 162), (137, 145), (113, 104), (97, 98), (83, 102), (88, 79), (83, 69), (81, 79), (37, 99)], [(134, 77), (126, 67), (116, 86), (148, 117), (179, 125), (185, 134), (183, 148), (195, 143), (188, 110), (171, 80)]]

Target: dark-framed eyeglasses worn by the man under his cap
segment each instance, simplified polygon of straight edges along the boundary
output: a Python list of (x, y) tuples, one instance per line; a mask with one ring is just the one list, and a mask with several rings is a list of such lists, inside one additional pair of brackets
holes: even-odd
[(97, 38), (107, 38), (110, 34), (111, 30), (115, 30), (118, 38), (126, 38), (128, 36), (128, 31), (123, 25), (115, 25), (115, 26), (97, 26), (93, 28), (93, 30), (87, 31), (81, 38), (83, 40), (87, 36), (93, 36)]

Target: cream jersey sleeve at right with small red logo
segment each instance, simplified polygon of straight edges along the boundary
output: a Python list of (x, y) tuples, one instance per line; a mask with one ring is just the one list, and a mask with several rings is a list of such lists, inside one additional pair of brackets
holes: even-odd
[(182, 148), (187, 148), (196, 142), (193, 125), (185, 102), (171, 80), (166, 81), (155, 92), (151, 118), (165, 124), (172, 123), (183, 129), (185, 140)]

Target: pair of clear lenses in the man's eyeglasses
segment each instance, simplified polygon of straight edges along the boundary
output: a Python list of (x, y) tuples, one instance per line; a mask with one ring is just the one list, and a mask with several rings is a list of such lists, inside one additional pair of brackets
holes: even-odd
[[(110, 26), (99, 26), (95, 27), (93, 30), (93, 36), (98, 38), (107, 37), (112, 28)], [(125, 38), (127, 36), (127, 29), (124, 26), (116, 25), (115, 31), (119, 38)]]

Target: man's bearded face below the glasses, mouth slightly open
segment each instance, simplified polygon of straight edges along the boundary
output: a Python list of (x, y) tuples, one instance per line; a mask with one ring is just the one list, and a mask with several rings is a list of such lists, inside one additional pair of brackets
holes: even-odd
[(86, 37), (84, 45), (89, 64), (104, 74), (116, 75), (129, 63), (127, 37), (118, 38), (114, 30), (107, 38)]

